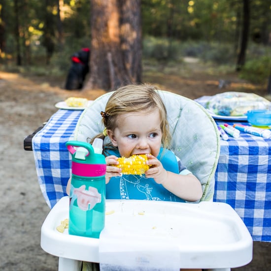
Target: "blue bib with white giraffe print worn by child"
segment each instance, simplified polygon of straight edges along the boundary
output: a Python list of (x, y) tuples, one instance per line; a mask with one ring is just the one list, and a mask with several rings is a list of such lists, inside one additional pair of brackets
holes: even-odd
[[(118, 150), (115, 149), (105, 149), (105, 154), (106, 156), (115, 155), (120, 157)], [(157, 158), (164, 169), (179, 173), (174, 153), (161, 148)], [(111, 177), (109, 183), (106, 184), (106, 199), (185, 202), (165, 189), (162, 184), (156, 183), (153, 178), (146, 178), (144, 174), (123, 174), (122, 176)]]

